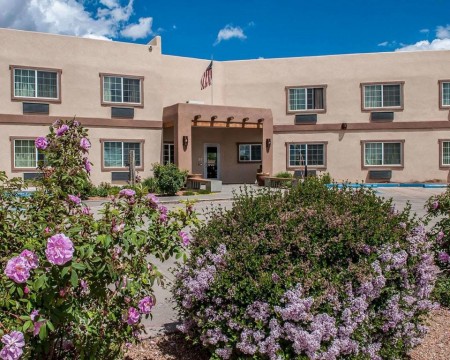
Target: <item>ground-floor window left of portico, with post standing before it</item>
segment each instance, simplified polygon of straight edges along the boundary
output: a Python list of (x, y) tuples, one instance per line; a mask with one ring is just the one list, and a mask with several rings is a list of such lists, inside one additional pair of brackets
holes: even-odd
[(142, 142), (103, 142), (103, 166), (105, 168), (124, 168), (129, 166), (130, 150), (134, 150), (136, 167), (142, 166)]

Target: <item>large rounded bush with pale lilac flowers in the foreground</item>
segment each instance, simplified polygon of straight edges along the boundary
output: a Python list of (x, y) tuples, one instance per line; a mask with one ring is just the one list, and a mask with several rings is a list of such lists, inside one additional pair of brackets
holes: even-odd
[(431, 246), (409, 208), (370, 190), (245, 190), (194, 233), (180, 330), (212, 358), (404, 358), (435, 306)]

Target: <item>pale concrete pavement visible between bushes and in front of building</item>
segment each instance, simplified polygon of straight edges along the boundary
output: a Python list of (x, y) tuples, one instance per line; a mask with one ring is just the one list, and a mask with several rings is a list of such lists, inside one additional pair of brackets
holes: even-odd
[[(247, 185), (250, 189), (261, 189), (255, 185)], [(165, 204), (169, 209), (180, 206), (180, 200), (196, 200), (194, 205), (195, 211), (201, 219), (205, 218), (205, 213), (211, 211), (214, 207), (229, 209), (232, 206), (234, 192), (239, 192), (243, 185), (223, 185), (221, 193), (205, 194), (196, 196), (167, 196), (161, 197), (161, 203)], [(393, 198), (394, 204), (398, 209), (403, 209), (407, 202), (412, 205), (412, 212), (416, 213), (420, 218), (425, 215), (424, 205), (426, 200), (433, 195), (445, 192), (445, 188), (425, 189), (425, 188), (377, 188), (376, 192), (379, 196), (386, 199)], [(107, 200), (106, 200), (107, 201)], [(86, 201), (94, 213), (100, 208), (105, 201)], [(144, 321), (147, 335), (151, 337), (164, 331), (173, 331), (178, 324), (176, 311), (174, 310), (174, 302), (170, 293), (170, 282), (173, 281), (171, 269), (175, 266), (175, 259), (169, 259), (164, 263), (160, 263), (155, 258), (150, 258), (150, 262), (156, 265), (161, 273), (166, 277), (167, 283), (165, 287), (156, 286), (155, 296), (157, 299), (156, 306), (153, 308), (152, 319)]]

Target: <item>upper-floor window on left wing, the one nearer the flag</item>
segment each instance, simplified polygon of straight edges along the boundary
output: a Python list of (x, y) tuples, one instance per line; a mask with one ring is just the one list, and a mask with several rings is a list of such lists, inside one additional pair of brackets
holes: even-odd
[(143, 77), (101, 74), (103, 104), (143, 105)]

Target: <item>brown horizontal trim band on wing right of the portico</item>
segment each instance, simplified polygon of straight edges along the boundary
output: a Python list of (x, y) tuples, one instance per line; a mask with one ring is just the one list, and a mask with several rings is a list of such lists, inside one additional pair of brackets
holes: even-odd
[(274, 125), (274, 133), (301, 133), (317, 131), (383, 131), (383, 130), (440, 130), (450, 129), (448, 120), (401, 121), (385, 123), (346, 123), (347, 129), (342, 129), (342, 123), (315, 125)]

